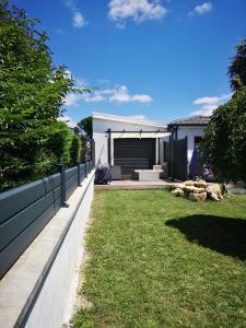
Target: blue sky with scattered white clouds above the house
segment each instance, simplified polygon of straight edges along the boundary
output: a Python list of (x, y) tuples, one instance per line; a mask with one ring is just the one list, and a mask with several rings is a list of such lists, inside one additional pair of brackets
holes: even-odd
[(227, 67), (246, 36), (245, 0), (12, 0), (49, 37), (90, 95), (69, 95), (79, 121), (92, 112), (159, 121), (209, 115), (230, 98)]

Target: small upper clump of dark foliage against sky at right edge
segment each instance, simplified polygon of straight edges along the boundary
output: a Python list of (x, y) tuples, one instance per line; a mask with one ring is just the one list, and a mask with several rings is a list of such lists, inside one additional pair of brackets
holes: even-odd
[(236, 46), (236, 55), (229, 68), (229, 75), (232, 90), (237, 91), (246, 86), (246, 39)]

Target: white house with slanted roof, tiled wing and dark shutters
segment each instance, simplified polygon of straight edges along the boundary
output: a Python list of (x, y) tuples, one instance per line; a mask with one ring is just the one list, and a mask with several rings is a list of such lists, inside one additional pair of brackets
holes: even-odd
[(95, 162), (107, 163), (113, 171), (120, 168), (121, 177), (130, 177), (136, 168), (152, 169), (154, 164), (167, 162), (166, 174), (183, 179), (208, 121), (207, 117), (191, 117), (167, 125), (93, 113)]

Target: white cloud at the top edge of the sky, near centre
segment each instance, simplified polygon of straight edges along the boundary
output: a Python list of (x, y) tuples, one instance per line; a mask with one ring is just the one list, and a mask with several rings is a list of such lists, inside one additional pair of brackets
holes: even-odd
[(167, 13), (159, 0), (110, 0), (108, 8), (108, 17), (121, 28), (125, 27), (127, 19), (141, 23), (160, 20)]

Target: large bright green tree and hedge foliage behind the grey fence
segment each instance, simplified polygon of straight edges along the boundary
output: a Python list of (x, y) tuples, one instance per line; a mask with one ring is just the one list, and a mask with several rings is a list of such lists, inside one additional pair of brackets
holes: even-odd
[(66, 67), (54, 66), (48, 37), (36, 23), (24, 10), (1, 1), (0, 190), (70, 161), (71, 137), (57, 119), (66, 94), (79, 90)]

